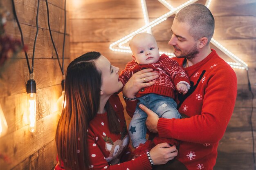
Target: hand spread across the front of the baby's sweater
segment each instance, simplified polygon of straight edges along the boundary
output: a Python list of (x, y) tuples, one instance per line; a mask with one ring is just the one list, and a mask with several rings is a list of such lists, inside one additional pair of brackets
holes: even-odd
[(153, 71), (152, 68), (146, 68), (134, 73), (123, 88), (124, 96), (134, 98), (141, 88), (155, 84), (155, 82), (150, 81), (156, 79), (158, 74), (151, 71)]

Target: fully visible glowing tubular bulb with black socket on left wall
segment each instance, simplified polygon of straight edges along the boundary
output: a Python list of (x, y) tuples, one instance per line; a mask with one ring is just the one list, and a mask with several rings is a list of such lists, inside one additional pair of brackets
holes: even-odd
[(36, 131), (36, 82), (34, 79), (27, 81), (27, 101), (28, 101), (28, 122), (29, 131)]

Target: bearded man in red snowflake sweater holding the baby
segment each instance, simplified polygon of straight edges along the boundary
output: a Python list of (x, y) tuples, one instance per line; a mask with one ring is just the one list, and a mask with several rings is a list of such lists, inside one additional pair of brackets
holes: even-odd
[(173, 46), (174, 59), (184, 67), (191, 82), (188, 93), (177, 96), (177, 109), (186, 118), (159, 118), (145, 106), (140, 108), (148, 114), (146, 125), (151, 132), (180, 140), (175, 159), (186, 169), (212, 170), (218, 143), (234, 110), (236, 74), (210, 49), (214, 18), (204, 5), (191, 4), (181, 9), (171, 31), (168, 44)]

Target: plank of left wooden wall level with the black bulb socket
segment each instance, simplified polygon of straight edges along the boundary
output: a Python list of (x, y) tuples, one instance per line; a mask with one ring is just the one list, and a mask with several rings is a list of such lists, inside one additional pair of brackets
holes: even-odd
[[(65, 68), (68, 63), (69, 59), (66, 59), (64, 62)], [(26, 59), (14, 60), (5, 71), (6, 73), (2, 74), (2, 79), (0, 79), (0, 97), (25, 93), (27, 91), (26, 84), (29, 80)], [(64, 71), (66, 71), (66, 69), (64, 69)], [(61, 84), (62, 74), (57, 60), (35, 59), (34, 80), (36, 81), (37, 89)]]

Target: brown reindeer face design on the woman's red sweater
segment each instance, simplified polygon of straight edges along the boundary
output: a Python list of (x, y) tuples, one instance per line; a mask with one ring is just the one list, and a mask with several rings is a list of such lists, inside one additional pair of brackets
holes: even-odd
[(110, 152), (109, 157), (105, 158), (108, 163), (113, 165), (120, 162), (119, 155), (126, 148), (129, 143), (129, 136), (126, 127), (123, 128), (121, 133), (121, 139), (112, 141), (108, 136), (102, 136), (105, 143), (105, 149)]

